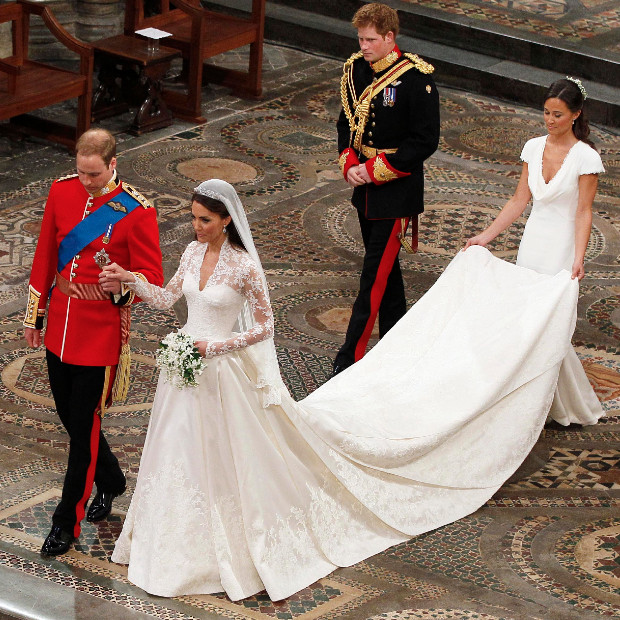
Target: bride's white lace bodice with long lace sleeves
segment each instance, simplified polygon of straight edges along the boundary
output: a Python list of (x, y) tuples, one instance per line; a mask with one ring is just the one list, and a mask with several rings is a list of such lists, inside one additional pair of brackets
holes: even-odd
[[(200, 290), (200, 267), (206, 250), (206, 243), (190, 243), (165, 288), (142, 280), (131, 283), (130, 288), (150, 306), (162, 310), (185, 295), (187, 323), (183, 331), (197, 341), (208, 342), (207, 357), (272, 338), (273, 313), (252, 258), (226, 240), (213, 273)], [(237, 334), (233, 329), (246, 301), (255, 325)]]

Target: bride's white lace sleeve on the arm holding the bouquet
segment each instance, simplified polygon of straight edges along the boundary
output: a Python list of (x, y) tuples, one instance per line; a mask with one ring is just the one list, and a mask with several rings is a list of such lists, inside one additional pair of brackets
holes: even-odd
[(236, 349), (249, 347), (268, 338), (273, 338), (274, 323), (271, 304), (269, 303), (269, 297), (266, 294), (262, 278), (256, 269), (256, 265), (251, 260), (246, 262), (240, 278), (241, 287), (239, 290), (250, 306), (250, 312), (254, 318), (255, 325), (251, 329), (237, 334), (228, 340), (209, 342), (206, 347), (205, 357), (223, 355)]

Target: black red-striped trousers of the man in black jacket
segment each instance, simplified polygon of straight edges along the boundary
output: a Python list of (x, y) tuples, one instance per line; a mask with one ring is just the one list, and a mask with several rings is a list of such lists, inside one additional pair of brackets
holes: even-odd
[(365, 249), (360, 290), (334, 366), (347, 367), (364, 356), (377, 314), (381, 338), (407, 312), (398, 261), (400, 219), (369, 220), (359, 209), (357, 214)]

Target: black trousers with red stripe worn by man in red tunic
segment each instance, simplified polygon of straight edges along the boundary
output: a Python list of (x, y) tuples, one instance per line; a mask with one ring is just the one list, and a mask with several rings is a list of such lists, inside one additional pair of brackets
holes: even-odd
[(69, 433), (69, 460), (52, 523), (76, 538), (93, 482), (99, 491), (120, 494), (125, 476), (101, 432), (101, 405), (112, 391), (114, 366), (77, 366), (46, 352), (50, 387), (60, 421)]

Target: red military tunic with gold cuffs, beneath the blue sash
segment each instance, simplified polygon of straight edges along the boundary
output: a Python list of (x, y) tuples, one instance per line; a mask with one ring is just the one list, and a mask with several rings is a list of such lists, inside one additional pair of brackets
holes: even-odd
[[(109, 191), (103, 194), (106, 190)], [(110, 262), (161, 286), (162, 257), (155, 209), (130, 186), (123, 189), (116, 172), (108, 185), (92, 197), (77, 175), (58, 179), (49, 192), (32, 264), (24, 325), (37, 329), (43, 326), (51, 289), (45, 346), (69, 364), (112, 366), (119, 360), (120, 306), (111, 299), (68, 297), (52, 285), (61, 241), (81, 220), (123, 191), (131, 193), (141, 205), (114, 224), (107, 243), (104, 243), (104, 234), (96, 238), (77, 253), (60, 275), (71, 283), (98, 284), (101, 268), (94, 256), (105, 249)], [(125, 303), (128, 305), (134, 301), (131, 295)]]

